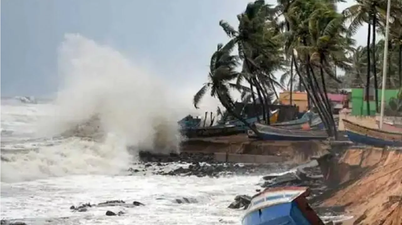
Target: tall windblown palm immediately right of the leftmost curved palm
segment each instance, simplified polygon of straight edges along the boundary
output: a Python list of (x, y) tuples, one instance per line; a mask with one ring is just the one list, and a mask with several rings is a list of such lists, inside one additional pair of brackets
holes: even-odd
[[(269, 112), (267, 90), (272, 90), (275, 85), (279, 85), (272, 73), (283, 63), (279, 31), (271, 29), (267, 23), (267, 20), (272, 18), (272, 12), (273, 9), (265, 4), (264, 0), (256, 0), (249, 3), (246, 10), (237, 16), (238, 30), (223, 20), (219, 22), (231, 38), (230, 42), (237, 45), (238, 55), (243, 60), (242, 72), (238, 76), (237, 84), (243, 80), (250, 84), (250, 93), (256, 109), (255, 93), (257, 93), (263, 110), (263, 119), (267, 123), (269, 123), (267, 119), (269, 117), (265, 116)], [(259, 115), (255, 116), (258, 118)]]

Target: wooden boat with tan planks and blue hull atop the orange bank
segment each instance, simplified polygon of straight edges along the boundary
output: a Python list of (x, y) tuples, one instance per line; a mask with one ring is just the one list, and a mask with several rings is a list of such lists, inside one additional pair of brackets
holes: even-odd
[(350, 141), (375, 147), (402, 147), (402, 133), (373, 129), (346, 119), (342, 121)]

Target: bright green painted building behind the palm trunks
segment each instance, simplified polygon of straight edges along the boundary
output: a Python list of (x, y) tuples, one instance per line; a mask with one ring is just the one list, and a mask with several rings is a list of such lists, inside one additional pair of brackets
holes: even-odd
[[(398, 95), (398, 89), (388, 89), (385, 90), (385, 101), (388, 103), (390, 98), (396, 97)], [(378, 101), (381, 107), (381, 89), (378, 89)], [(370, 104), (370, 115), (375, 115), (375, 98), (374, 98), (374, 88), (370, 88), (369, 94), (369, 104)], [(367, 116), (367, 102), (364, 98), (365, 89), (364, 88), (352, 88), (351, 99), (353, 116)]]

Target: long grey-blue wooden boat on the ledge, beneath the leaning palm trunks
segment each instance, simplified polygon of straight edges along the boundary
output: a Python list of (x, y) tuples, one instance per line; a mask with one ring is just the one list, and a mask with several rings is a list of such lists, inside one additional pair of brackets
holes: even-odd
[[(261, 139), (264, 141), (309, 141), (309, 140), (325, 140), (328, 138), (324, 130), (291, 130), (279, 127), (254, 123), (254, 127), (260, 133)], [(249, 138), (255, 138), (256, 134), (252, 130), (247, 131)]]

